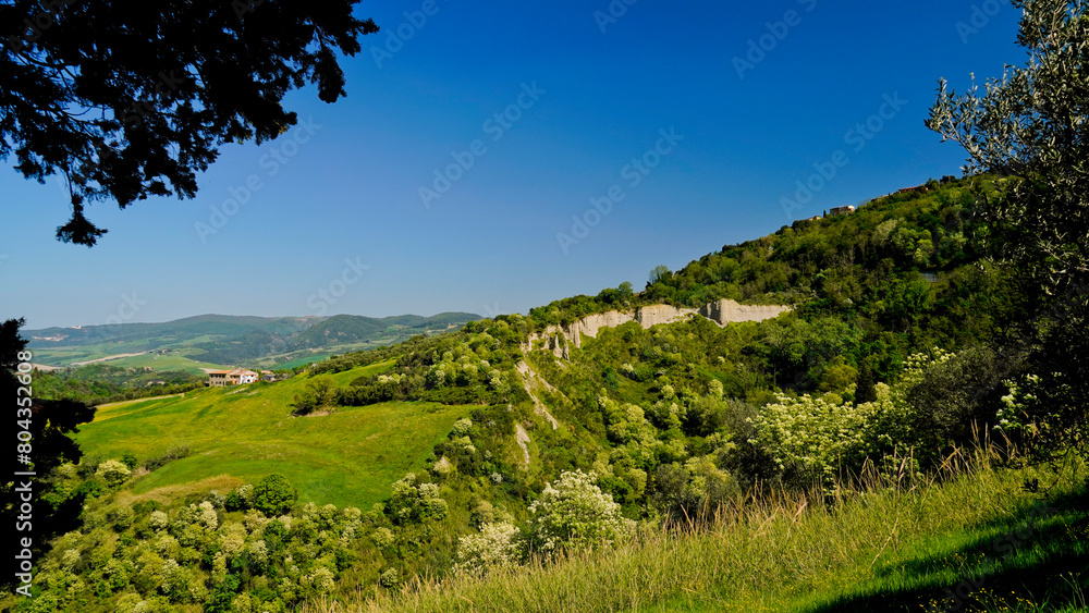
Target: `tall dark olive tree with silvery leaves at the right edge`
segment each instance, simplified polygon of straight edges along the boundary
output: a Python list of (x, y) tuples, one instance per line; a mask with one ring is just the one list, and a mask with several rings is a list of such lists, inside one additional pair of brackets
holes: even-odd
[(1024, 66), (957, 96), (942, 79), (927, 125), (968, 154), (966, 173), (1011, 185), (981, 203), (992, 257), (1023, 274), (1029, 354), (1023, 378), (1041, 376), (1023, 418), (1047, 433), (1048, 454), (1089, 455), (1089, 0), (1014, 0)]

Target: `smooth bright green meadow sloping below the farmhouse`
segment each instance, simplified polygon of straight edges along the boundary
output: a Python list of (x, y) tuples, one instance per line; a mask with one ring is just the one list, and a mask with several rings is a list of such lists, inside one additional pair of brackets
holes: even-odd
[[(334, 379), (343, 384), (389, 367), (371, 365)], [(386, 403), (292, 417), (293, 395), (306, 381), (103, 405), (76, 440), (85, 453), (101, 457), (131, 452), (145, 459), (178, 445), (191, 448), (188, 457), (144, 477), (134, 488), (137, 493), (218, 475), (254, 482), (282, 473), (298, 488), (302, 502), (368, 508), (389, 496), (393, 481), (421, 469), (435, 444), (473, 408)]]

